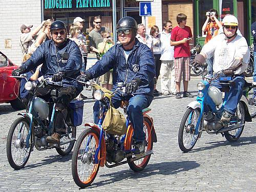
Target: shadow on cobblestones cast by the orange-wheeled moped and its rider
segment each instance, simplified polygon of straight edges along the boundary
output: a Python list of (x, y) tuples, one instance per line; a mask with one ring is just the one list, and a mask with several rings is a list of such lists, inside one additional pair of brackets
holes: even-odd
[(113, 168), (113, 173), (99, 176), (99, 177), (111, 177), (110, 179), (93, 183), (90, 187), (87, 187), (87, 189), (108, 185), (110, 183), (126, 180), (126, 179), (146, 178), (153, 175), (163, 175), (163, 176), (173, 175), (179, 172), (185, 172), (187, 170), (197, 168), (199, 166), (200, 164), (197, 163), (196, 161), (173, 161), (173, 162), (161, 162), (161, 163), (148, 164), (145, 167), (145, 169), (142, 170), (141, 172), (133, 172), (131, 169), (115, 172), (115, 169)]

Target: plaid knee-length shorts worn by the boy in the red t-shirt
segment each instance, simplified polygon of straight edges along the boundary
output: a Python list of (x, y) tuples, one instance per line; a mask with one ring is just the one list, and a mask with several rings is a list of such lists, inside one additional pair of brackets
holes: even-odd
[(180, 82), (181, 77), (185, 81), (190, 80), (189, 62), (189, 57), (177, 57), (174, 59), (175, 82)]

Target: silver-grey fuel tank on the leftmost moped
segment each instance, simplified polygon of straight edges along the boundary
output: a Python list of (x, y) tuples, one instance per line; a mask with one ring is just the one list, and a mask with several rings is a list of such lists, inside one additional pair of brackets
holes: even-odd
[(44, 99), (35, 98), (33, 103), (33, 110), (38, 114), (41, 120), (47, 119), (49, 115), (49, 105)]

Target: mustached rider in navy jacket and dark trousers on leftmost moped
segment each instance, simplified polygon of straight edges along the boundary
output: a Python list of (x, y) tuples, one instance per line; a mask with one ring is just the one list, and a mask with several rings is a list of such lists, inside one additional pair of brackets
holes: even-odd
[[(22, 63), (22, 66), (13, 70), (12, 75), (19, 76), (27, 73), (42, 63), (41, 73), (44, 77), (52, 77), (53, 81), (62, 81), (56, 101), (55, 133), (46, 139), (49, 143), (58, 144), (60, 134), (66, 133), (63, 118), (66, 119), (68, 115), (67, 106), (83, 89), (75, 80), (81, 74), (82, 55), (76, 42), (67, 39), (67, 28), (63, 22), (56, 20), (52, 23), (50, 30), (52, 40), (47, 40), (40, 45), (32, 56)], [(69, 58), (64, 58), (65, 53), (68, 53)], [(50, 94), (51, 90), (48, 88), (41, 88), (36, 92), (37, 96), (46, 100), (49, 99)]]

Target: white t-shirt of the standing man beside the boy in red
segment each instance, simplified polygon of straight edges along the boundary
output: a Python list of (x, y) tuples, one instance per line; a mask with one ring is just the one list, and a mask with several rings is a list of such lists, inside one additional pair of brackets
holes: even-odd
[(174, 60), (174, 46), (170, 46), (171, 33), (165, 33), (164, 31), (160, 33), (161, 41), (161, 57), (160, 60)]

